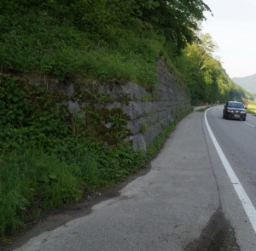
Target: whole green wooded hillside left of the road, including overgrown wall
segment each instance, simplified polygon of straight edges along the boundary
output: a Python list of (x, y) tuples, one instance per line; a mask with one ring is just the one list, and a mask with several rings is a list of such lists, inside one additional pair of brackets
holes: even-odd
[[(210, 11), (202, 0), (1, 3), (0, 242), (44, 210), (78, 203), (144, 167), (186, 115), (182, 102), (247, 95), (212, 57), (211, 37), (195, 33)], [(125, 94), (105, 92), (126, 83)], [(132, 86), (143, 88), (135, 100)], [(167, 100), (176, 110), (164, 111)], [(165, 128), (154, 134), (161, 119)], [(132, 129), (154, 137), (147, 151), (125, 141)]]

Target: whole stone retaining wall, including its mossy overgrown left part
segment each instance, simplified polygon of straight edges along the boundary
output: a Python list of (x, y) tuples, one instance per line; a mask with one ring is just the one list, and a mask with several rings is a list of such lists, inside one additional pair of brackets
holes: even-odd
[[(30, 83), (41, 83), (54, 90), (59, 96), (61, 95), (59, 100), (61, 103), (63, 103), (62, 96), (66, 97), (67, 108), (72, 117), (79, 117), (80, 121), (84, 120), (85, 126), (87, 125), (86, 129), (90, 133), (94, 133), (96, 129), (98, 129), (97, 136), (107, 133), (106, 144), (113, 144), (111, 140), (109, 141), (109, 137), (111, 139), (117, 130), (106, 118), (106, 110), (118, 111), (118, 115), (120, 111), (125, 114), (127, 118), (125, 132), (128, 130), (128, 136), (126, 133), (124, 137), (117, 137), (114, 140), (115, 142), (116, 140), (129, 140), (136, 150), (147, 150), (155, 136), (160, 134), (168, 124), (183, 116), (185, 112), (191, 111), (187, 88), (168, 71), (163, 60), (158, 62), (158, 81), (154, 90), (147, 90), (131, 82), (88, 84), (86, 80), (81, 79), (81, 81), (70, 80), (60, 84), (53, 77), (45, 79), (36, 75), (28, 78)], [(87, 115), (97, 111), (105, 112), (104, 116), (97, 114), (104, 120), (97, 122), (99, 128), (95, 125), (90, 126), (90, 119), (87, 121)], [(104, 137), (98, 138), (105, 140)]]

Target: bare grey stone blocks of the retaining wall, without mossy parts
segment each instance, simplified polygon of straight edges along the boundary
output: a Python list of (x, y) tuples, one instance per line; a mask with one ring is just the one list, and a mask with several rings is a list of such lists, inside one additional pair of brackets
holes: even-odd
[[(108, 109), (118, 107), (129, 117), (127, 128), (130, 135), (125, 140), (131, 140), (136, 150), (147, 150), (155, 136), (168, 124), (191, 110), (189, 94), (184, 84), (168, 71), (164, 61), (159, 61), (158, 69), (158, 83), (154, 91), (131, 82), (112, 86), (104, 84), (90, 90), (94, 94), (108, 95), (108, 100), (112, 100), (95, 106)], [(72, 86), (68, 86), (67, 92), (72, 97)], [(77, 101), (68, 103), (71, 112), (79, 111), (80, 106)], [(106, 127), (111, 128), (111, 124), (106, 123)]]

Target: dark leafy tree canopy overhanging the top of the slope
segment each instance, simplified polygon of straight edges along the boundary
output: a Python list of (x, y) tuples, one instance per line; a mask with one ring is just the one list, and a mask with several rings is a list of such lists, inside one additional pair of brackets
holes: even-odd
[(67, 3), (73, 22), (83, 31), (108, 39), (121, 26), (154, 29), (166, 37), (167, 43), (173, 43), (178, 52), (186, 43), (198, 39), (198, 22), (205, 19), (204, 11), (211, 11), (201, 0), (58, 1), (61, 9)]

